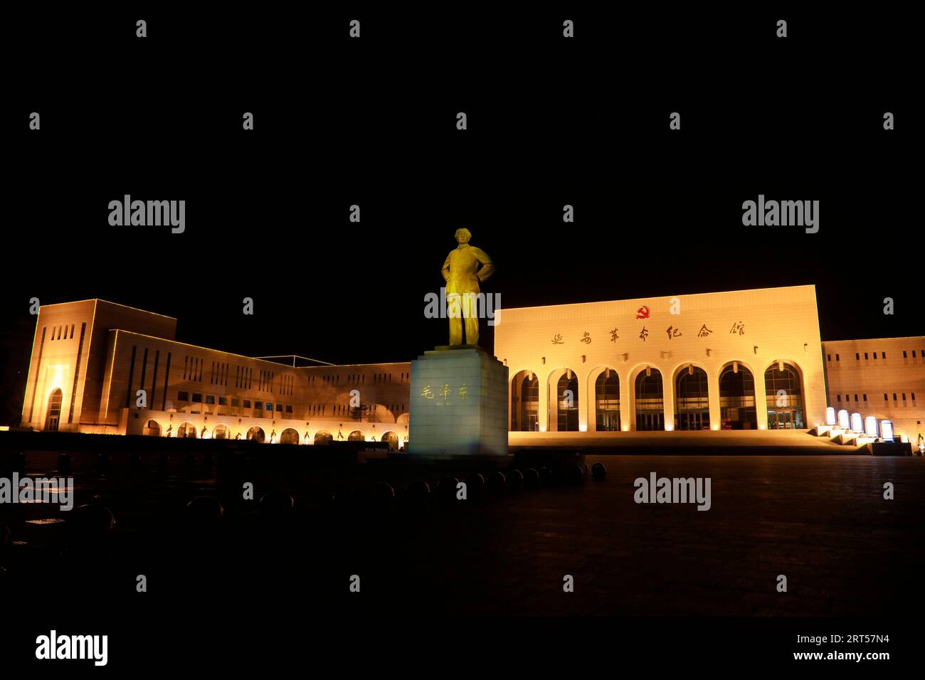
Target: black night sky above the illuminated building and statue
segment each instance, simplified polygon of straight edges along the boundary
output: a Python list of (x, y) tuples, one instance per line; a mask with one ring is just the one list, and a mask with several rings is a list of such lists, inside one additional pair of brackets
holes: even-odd
[[(697, 12), (576, 14), (573, 43), (561, 12), (369, 14), (360, 45), (319, 28), (349, 17), (260, 19), (271, 51), (240, 43), (244, 19), (151, 15), (142, 44), (133, 18), (82, 26), (73, 60), (39, 56), (10, 85), (4, 402), (28, 367), (31, 297), (176, 316), (178, 340), (246, 355), (412, 360), (447, 341), (424, 296), (462, 226), (502, 307), (815, 284), (823, 340), (925, 332), (902, 60), (884, 68), (849, 18), (791, 20), (783, 43), (772, 15)], [(31, 37), (69, 40), (65, 19)], [(212, 43), (190, 46), (202, 31)], [(110, 227), (126, 193), (186, 200), (185, 233)], [(819, 200), (819, 233), (743, 227), (759, 193)]]

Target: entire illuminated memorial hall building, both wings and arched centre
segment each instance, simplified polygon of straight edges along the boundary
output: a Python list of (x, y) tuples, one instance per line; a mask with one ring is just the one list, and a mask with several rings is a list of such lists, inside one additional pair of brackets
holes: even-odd
[[(925, 410), (925, 337), (822, 341), (814, 286), (501, 309), (496, 323), (518, 443), (530, 432), (810, 429), (828, 407), (888, 419), (915, 441)], [(43, 305), (22, 426), (407, 444), (410, 362), (246, 357), (180, 342), (176, 328), (102, 300)]]

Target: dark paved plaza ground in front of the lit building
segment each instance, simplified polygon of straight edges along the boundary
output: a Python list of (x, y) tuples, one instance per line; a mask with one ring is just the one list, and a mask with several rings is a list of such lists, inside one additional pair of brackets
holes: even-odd
[[(145, 654), (154, 643), (134, 636), (139, 630), (173, 631), (171, 644), (187, 652), (199, 649), (199, 640), (203, 649), (215, 644), (216, 637), (299, 638), (295, 631), (302, 629), (292, 622), (309, 626), (319, 645), (317, 636), (342, 643), (370, 625), (383, 635), (388, 622), (399, 626), (395, 634), (423, 625), (419, 635), (446, 642), (459, 626), (468, 628), (469, 616), (505, 617), (478, 624), (504, 636), (532, 635), (524, 632), (531, 624), (502, 623), (511, 615), (567, 614), (866, 622), (872, 616), (883, 617), (873, 619), (881, 623), (874, 630), (865, 623), (860, 632), (882, 633), (889, 629), (885, 622), (917, 615), (925, 601), (919, 579), (925, 460), (918, 457), (588, 455), (589, 468), (607, 466), (606, 480), (550, 479), (534, 490), (486, 489), (479, 499), (439, 501), (440, 477), (470, 470), (401, 460), (319, 464), (301, 447), (295, 455), (259, 450), (263, 455), (237, 454), (210, 465), (203, 455), (190, 464), (174, 449), (166, 468), (150, 451), (134, 466), (127, 454), (113, 453), (102, 474), (93, 455), (76, 453), (77, 505), (105, 505), (116, 524), (95, 532), (90, 522), (79, 530), (78, 511), (68, 518), (47, 505), (3, 506), (12, 530), (3, 601), (36, 622), (40, 633), (76, 620), (71, 627), (97, 625), (117, 649)], [(0, 454), (4, 459), (8, 470), (11, 459)], [(29, 454), (28, 472), (55, 469), (55, 452)], [(652, 471), (709, 476), (709, 512), (697, 512), (694, 504), (636, 504), (633, 480)], [(405, 491), (414, 478), (435, 489), (429, 501), (413, 501)], [(241, 499), (244, 481), (253, 481), (255, 501)], [(376, 481), (389, 482), (396, 498), (377, 501)], [(895, 487), (893, 501), (882, 499), (887, 481)], [(273, 491), (291, 494), (290, 513), (261, 506)], [(221, 520), (186, 509), (201, 496), (220, 500)], [(786, 593), (775, 588), (782, 574)], [(146, 576), (146, 593), (136, 591), (137, 575)], [(350, 591), (351, 575), (360, 576), (359, 593)], [(563, 592), (565, 575), (573, 576), (573, 592)], [(454, 614), (466, 618), (451, 619)], [(569, 620), (571, 632), (588, 625)], [(635, 622), (635, 635), (645, 637), (636, 645), (650, 645), (679, 625), (669, 619), (644, 635), (639, 630), (665, 620), (617, 621), (624, 624), (607, 624), (615, 635), (620, 625)], [(725, 630), (728, 637), (748, 624), (697, 621), (694, 631), (670, 637), (692, 645), (697, 630), (701, 636)], [(790, 621), (807, 633), (841, 630), (847, 619)], [(30, 625), (19, 632), (31, 645)], [(598, 625), (590, 627), (602, 635)], [(352, 632), (342, 637), (341, 631)], [(558, 624), (536, 630), (537, 639), (564, 634)], [(743, 644), (770, 645), (778, 655), (801, 649), (791, 630), (776, 635)], [(726, 637), (705, 644), (722, 650)], [(885, 649), (896, 649), (895, 641)], [(165, 649), (166, 659), (174, 648)]]

